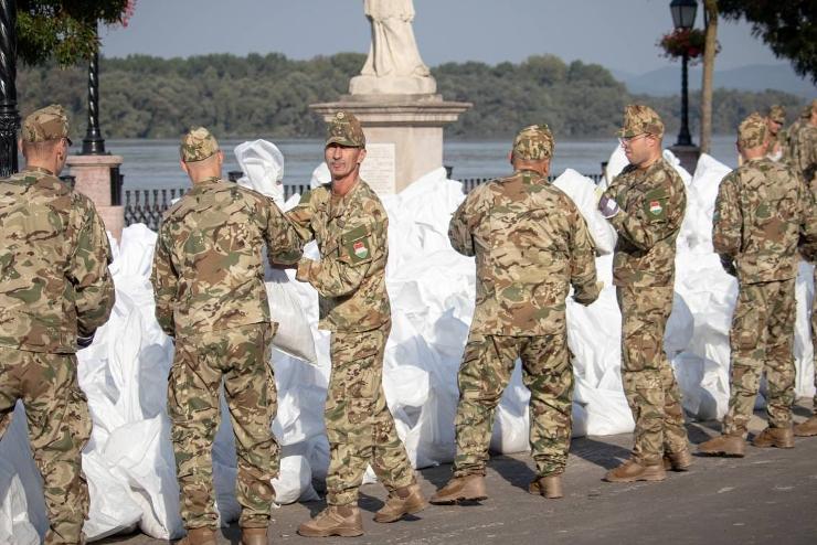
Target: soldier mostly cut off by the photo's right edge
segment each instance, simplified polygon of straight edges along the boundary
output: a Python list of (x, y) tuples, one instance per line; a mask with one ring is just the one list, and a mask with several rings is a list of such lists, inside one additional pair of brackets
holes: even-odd
[[(808, 223), (809, 228), (817, 231), (817, 100), (811, 101), (809, 117), (804, 122), (797, 135), (797, 147), (799, 163), (795, 165), (800, 175), (811, 190), (813, 215)], [(814, 246), (804, 248), (803, 255), (811, 263), (817, 257)], [(815, 286), (817, 286), (817, 269), (814, 275)], [(815, 388), (817, 388), (817, 297), (811, 299), (811, 345), (815, 346)], [(814, 397), (813, 416), (805, 423), (794, 426), (794, 435), (799, 437), (817, 436), (817, 394)]]

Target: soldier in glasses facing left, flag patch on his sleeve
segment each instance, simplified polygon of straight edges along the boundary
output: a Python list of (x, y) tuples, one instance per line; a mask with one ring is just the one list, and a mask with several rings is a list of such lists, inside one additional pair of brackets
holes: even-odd
[(691, 464), (681, 393), (664, 352), (672, 310), (676, 238), (687, 196), (661, 157), (664, 122), (648, 106), (627, 106), (618, 132), (629, 160), (600, 200), (618, 233), (613, 282), (622, 311), (622, 381), (636, 423), (629, 460), (609, 482), (661, 481)]

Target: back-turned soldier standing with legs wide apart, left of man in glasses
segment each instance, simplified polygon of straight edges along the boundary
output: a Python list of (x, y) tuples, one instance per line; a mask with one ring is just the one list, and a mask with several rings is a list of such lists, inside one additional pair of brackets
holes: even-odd
[(530, 492), (561, 498), (571, 436), (573, 366), (565, 298), (598, 297), (594, 245), (573, 202), (548, 183), (553, 136), (545, 125), (513, 141), (513, 174), (468, 194), (448, 229), (454, 249), (476, 256), (477, 299), (459, 367), (454, 478), (432, 503), (482, 500), (494, 412), (517, 357), (530, 389)]

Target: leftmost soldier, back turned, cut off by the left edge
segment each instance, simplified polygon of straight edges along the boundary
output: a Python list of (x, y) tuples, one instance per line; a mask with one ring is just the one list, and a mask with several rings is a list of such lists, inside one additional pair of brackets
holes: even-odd
[(56, 178), (70, 145), (62, 106), (34, 111), (20, 141), (25, 170), (0, 180), (0, 437), (22, 400), (44, 481), (46, 544), (84, 543), (81, 452), (91, 415), (75, 352), (114, 306), (105, 225), (87, 197)]

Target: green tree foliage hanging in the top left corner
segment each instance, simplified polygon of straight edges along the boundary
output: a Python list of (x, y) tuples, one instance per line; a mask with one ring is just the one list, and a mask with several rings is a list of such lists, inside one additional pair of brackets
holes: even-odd
[(99, 50), (98, 22), (127, 25), (135, 0), (18, 0), (18, 56), (29, 65), (53, 57), (60, 66)]

